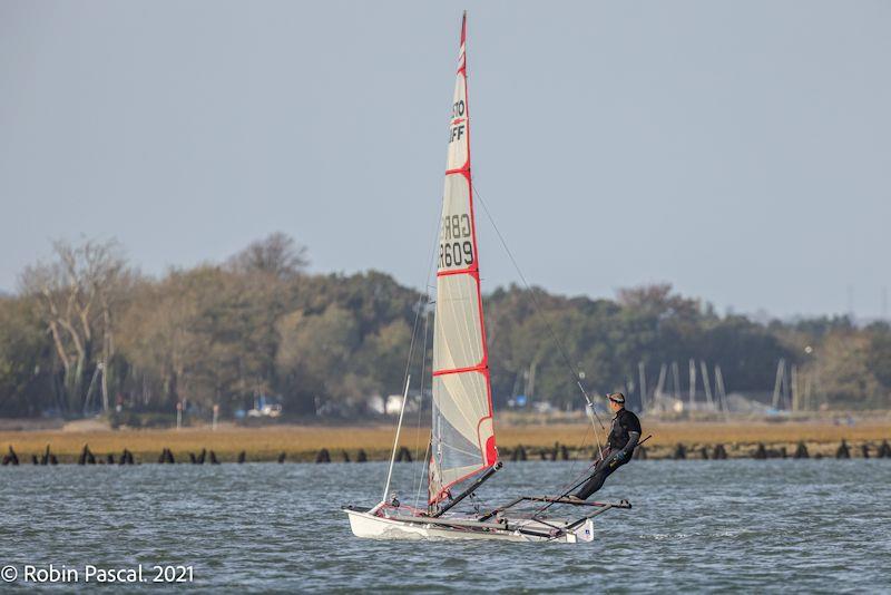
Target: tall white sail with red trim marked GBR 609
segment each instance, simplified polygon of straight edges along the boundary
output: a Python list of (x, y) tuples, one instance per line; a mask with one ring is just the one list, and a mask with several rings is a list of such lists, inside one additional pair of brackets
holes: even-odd
[(470, 182), (466, 32), (467, 14), (461, 22), (437, 269), (430, 504), (498, 460)]

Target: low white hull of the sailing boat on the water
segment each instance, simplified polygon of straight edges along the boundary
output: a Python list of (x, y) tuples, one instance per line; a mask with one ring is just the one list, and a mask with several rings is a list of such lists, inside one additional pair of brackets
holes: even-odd
[(463, 528), (437, 525), (433, 523), (407, 523), (394, 518), (381, 517), (371, 513), (360, 510), (343, 509), (350, 518), (350, 528), (356, 537), (368, 539), (489, 539), (502, 542), (557, 542), (557, 543), (584, 543), (594, 539), (594, 521), (588, 519), (577, 529), (558, 535), (556, 537), (544, 537), (522, 533), (531, 530), (541, 534), (549, 534), (554, 526), (566, 526), (566, 521), (548, 520), (548, 524), (530, 519), (508, 519), (507, 529), (492, 528)]

